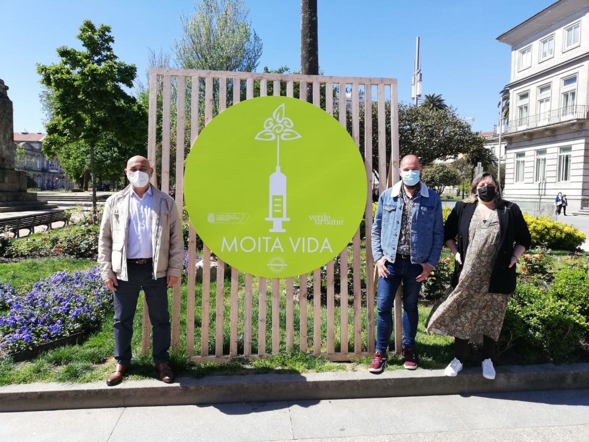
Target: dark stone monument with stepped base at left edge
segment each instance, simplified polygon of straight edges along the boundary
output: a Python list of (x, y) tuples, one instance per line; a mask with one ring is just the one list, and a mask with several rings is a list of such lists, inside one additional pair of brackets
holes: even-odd
[(8, 86), (0, 79), (0, 212), (47, 210), (56, 207), (27, 192), (27, 172), (14, 170), (14, 127)]

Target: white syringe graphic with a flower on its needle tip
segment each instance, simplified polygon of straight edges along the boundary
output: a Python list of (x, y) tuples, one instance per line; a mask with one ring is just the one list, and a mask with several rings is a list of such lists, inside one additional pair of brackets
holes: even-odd
[(264, 129), (255, 137), (260, 141), (276, 140), (276, 171), (270, 175), (269, 214), (264, 218), (266, 221), (272, 221), (270, 232), (286, 232), (282, 222), (290, 221), (290, 218), (286, 217), (286, 175), (280, 171), (280, 140), (300, 138), (300, 134), (292, 127), (292, 119), (284, 116), (284, 104), (281, 104), (274, 109), (272, 117), (264, 121)]

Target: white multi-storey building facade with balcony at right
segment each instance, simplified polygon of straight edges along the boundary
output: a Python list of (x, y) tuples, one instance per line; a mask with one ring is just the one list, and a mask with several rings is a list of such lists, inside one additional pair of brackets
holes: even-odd
[[(560, 0), (497, 37), (511, 46), (505, 198), (589, 207), (589, 4)], [(503, 140), (502, 140), (503, 141)]]

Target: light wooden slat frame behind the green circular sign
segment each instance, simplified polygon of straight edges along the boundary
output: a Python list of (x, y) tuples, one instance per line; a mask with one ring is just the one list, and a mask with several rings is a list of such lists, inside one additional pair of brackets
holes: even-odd
[[(205, 94), (204, 94), (204, 115), (205, 115), (205, 124), (207, 124), (213, 118), (213, 110), (214, 107), (214, 98), (217, 96), (215, 91), (213, 90), (214, 83), (213, 79), (217, 79), (219, 81), (219, 88), (218, 88), (218, 109), (219, 111), (223, 111), (226, 108), (226, 97), (227, 97), (227, 81), (233, 82), (233, 104), (236, 104), (240, 101), (240, 91), (241, 91), (241, 81), (245, 82), (246, 85), (246, 98), (253, 98), (253, 86), (254, 82), (259, 81), (260, 84), (260, 96), (267, 95), (267, 82), (272, 81), (273, 83), (273, 95), (280, 95), (280, 82), (284, 81), (286, 83), (286, 95), (292, 97), (294, 92), (294, 82), (299, 83), (300, 88), (300, 99), (307, 99), (307, 84), (312, 84), (313, 88), (309, 88), (309, 91), (312, 90), (312, 101), (313, 104), (320, 106), (320, 88), (322, 85), (325, 84), (326, 88), (326, 98), (325, 98), (325, 110), (327, 113), (333, 113), (333, 84), (339, 85), (340, 91), (340, 99), (339, 99), (339, 114), (340, 114), (340, 123), (346, 127), (348, 124), (346, 112), (348, 108), (346, 106), (346, 85), (351, 85), (352, 88), (352, 138), (356, 142), (356, 145), (359, 146), (359, 112), (360, 112), (360, 103), (359, 103), (359, 87), (363, 86), (365, 91), (365, 99), (363, 101), (364, 109), (368, 109), (369, 112), (366, 112), (365, 118), (365, 133), (371, 134), (372, 133), (372, 87), (375, 86), (378, 92), (378, 103), (376, 104), (378, 107), (378, 157), (379, 157), (379, 187), (382, 191), (384, 188), (394, 184), (393, 181), (397, 181), (398, 178), (395, 177), (396, 174), (392, 173), (394, 167), (398, 167), (398, 112), (397, 112), (397, 82), (396, 79), (393, 78), (365, 78), (365, 77), (328, 77), (328, 76), (310, 76), (310, 75), (298, 75), (298, 74), (257, 74), (257, 73), (249, 73), (249, 72), (213, 72), (213, 71), (194, 71), (194, 70), (186, 70), (186, 69), (151, 69), (150, 71), (150, 110), (148, 119), (150, 122), (149, 129), (148, 129), (148, 157), (150, 161), (155, 161), (155, 139), (157, 137), (156, 134), (156, 126), (155, 122), (157, 122), (157, 113), (155, 112), (155, 108), (157, 107), (157, 94), (158, 90), (163, 92), (163, 101), (164, 101), (164, 108), (163, 108), (163, 128), (162, 128), (162, 170), (161, 170), (161, 177), (162, 177), (162, 189), (166, 188), (167, 183), (169, 183), (169, 154), (170, 154), (170, 146), (169, 146), (169, 129), (170, 124), (168, 122), (168, 117), (171, 117), (171, 107), (170, 107), (170, 99), (166, 100), (166, 97), (171, 95), (171, 82), (172, 78), (177, 78), (177, 91), (178, 91), (178, 105), (177, 105), (177, 127), (176, 127), (176, 138), (177, 138), (177, 145), (176, 145), (176, 163), (177, 163), (177, 175), (176, 175), (176, 189), (180, 189), (180, 198), (177, 198), (176, 204), (178, 208), (181, 207), (182, 204), (182, 177), (178, 176), (181, 175), (181, 164), (183, 164), (183, 155), (184, 155), (184, 102), (180, 102), (180, 97), (185, 96), (185, 92), (183, 88), (186, 87), (185, 85), (185, 78), (190, 77), (191, 79), (191, 144), (194, 142), (198, 135), (198, 101), (200, 100), (200, 95), (198, 94), (199, 89), (199, 82), (200, 79), (204, 79), (205, 84)], [(163, 81), (161, 80), (163, 78)], [(157, 88), (158, 79), (160, 79), (163, 87), (160, 89)], [(167, 86), (168, 85), (168, 86)], [(385, 135), (385, 88), (390, 88), (391, 91), (391, 128), (392, 128), (392, 137), (391, 139), (386, 139)], [(166, 132), (166, 126), (168, 127), (168, 132)], [(366, 167), (366, 175), (367, 175), (367, 184), (368, 186), (368, 194), (366, 199), (366, 269), (367, 274), (370, 274), (368, 271), (369, 269), (373, 268), (372, 262), (372, 252), (370, 250), (370, 232), (372, 230), (372, 149), (375, 147), (375, 141), (372, 137), (368, 136), (365, 137), (364, 146), (365, 149), (365, 167)], [(386, 173), (386, 150), (391, 148), (391, 168), (389, 169), (389, 173)], [(360, 147), (360, 146), (359, 146)], [(368, 154), (370, 152), (370, 154)], [(167, 169), (167, 171), (166, 171)], [(180, 173), (178, 173), (180, 171)], [(388, 175), (388, 176), (387, 176)], [(387, 179), (388, 178), (388, 179)], [(386, 180), (386, 181), (385, 181)], [(155, 178), (152, 182), (157, 184)], [(165, 189), (167, 190), (167, 189)], [(178, 193), (177, 193), (178, 195)], [(196, 232), (194, 232), (194, 228), (190, 225), (190, 230), (188, 234), (188, 260), (189, 260), (189, 269), (194, 268), (192, 263), (190, 262), (192, 259), (196, 261)], [(361, 333), (364, 327), (362, 324), (361, 317), (360, 317), (360, 232), (356, 231), (356, 234), (352, 240), (352, 256), (353, 256), (353, 264), (352, 264), (352, 271), (353, 271), (353, 317), (354, 317), (354, 326), (353, 326), (353, 337), (354, 337), (354, 345), (353, 345), (353, 353), (348, 353), (348, 345), (347, 345), (347, 338), (348, 338), (348, 251), (344, 250), (340, 253), (340, 285), (342, 286), (342, 291), (340, 293), (340, 309), (342, 313), (342, 319), (340, 322), (341, 328), (341, 337), (342, 337), (342, 347), (340, 353), (335, 353), (335, 324), (333, 324), (333, 311), (335, 310), (335, 303), (333, 300), (335, 299), (335, 293), (333, 293), (333, 261), (327, 263), (327, 353), (322, 353), (322, 337), (321, 337), (321, 328), (320, 328), (320, 269), (313, 271), (313, 353), (314, 354), (322, 354), (325, 355), (327, 358), (331, 360), (349, 360), (350, 358), (357, 357), (358, 355), (364, 355), (367, 353), (371, 353), (374, 348), (374, 314), (373, 314), (373, 305), (374, 305), (374, 281), (372, 278), (368, 278), (366, 281), (366, 289), (367, 289), (367, 297), (366, 297), (366, 307), (368, 307), (368, 324), (365, 325), (368, 331), (368, 348), (363, 349), (360, 341)], [(193, 256), (194, 255), (194, 256)], [(207, 261), (207, 262), (204, 262)], [(196, 264), (196, 262), (195, 262)], [(224, 298), (224, 263), (221, 260), (218, 260), (217, 265), (217, 311), (216, 311), (216, 344), (215, 344), (215, 351), (214, 355), (209, 354), (209, 310), (210, 307), (207, 307), (207, 302), (209, 301), (207, 295), (210, 293), (210, 250), (205, 246), (203, 250), (203, 296), (201, 300), (201, 345), (200, 345), (200, 356), (194, 356), (194, 324), (193, 321), (190, 321), (190, 317), (194, 317), (195, 311), (195, 303), (194, 303), (194, 287), (195, 287), (195, 280), (194, 280), (194, 271), (188, 272), (188, 298), (187, 298), (187, 315), (188, 315), (188, 325), (187, 325), (187, 354), (188, 356), (192, 357), (194, 361), (207, 361), (207, 360), (214, 360), (220, 361), (226, 358), (235, 357), (237, 355), (237, 324), (239, 323), (239, 271), (237, 269), (231, 269), (231, 320), (230, 320), (230, 351), (229, 355), (223, 354), (223, 298)], [(319, 277), (317, 277), (317, 275)], [(299, 293), (300, 293), (300, 322), (299, 322), (299, 349), (301, 351), (307, 351), (307, 337), (306, 337), (306, 280), (307, 275), (300, 275), (299, 276)], [(256, 357), (257, 355), (252, 355), (252, 284), (253, 284), (253, 277), (252, 275), (245, 275), (245, 289), (244, 289), (244, 355), (248, 357)], [(335, 281), (334, 281), (335, 282)], [(272, 284), (272, 351), (273, 353), (278, 351), (280, 348), (280, 322), (279, 322), (279, 310), (277, 310), (277, 306), (280, 306), (280, 290), (279, 290), (279, 280), (273, 280)], [(259, 311), (259, 347), (258, 353), (265, 354), (265, 333), (266, 333), (266, 279), (260, 278), (260, 311)], [(206, 293), (205, 293), (206, 292)], [(179, 290), (178, 290), (178, 293)], [(263, 296), (262, 296), (263, 295)], [(294, 324), (293, 324), (293, 310), (294, 310), (294, 280), (293, 278), (287, 278), (286, 280), (286, 347), (292, 348), (294, 346)], [(333, 298), (332, 298), (333, 297)], [(263, 300), (262, 300), (263, 298)], [(330, 298), (331, 301), (330, 301)], [(173, 307), (172, 307), (172, 345), (173, 347), (177, 347), (179, 345), (179, 314), (178, 314), (178, 307), (180, 305), (179, 297), (176, 294), (176, 289), (174, 290), (174, 297), (173, 297)], [(317, 309), (317, 301), (319, 305), (319, 309)], [(397, 304), (397, 303), (395, 303)], [(400, 304), (399, 304), (400, 305)], [(397, 307), (397, 306), (396, 306)], [(316, 318), (319, 318), (317, 321)], [(397, 318), (395, 318), (397, 319)], [(262, 324), (263, 320), (263, 324)], [(395, 321), (397, 323), (397, 321)], [(278, 324), (278, 327), (276, 327)], [(147, 327), (145, 327), (147, 325)], [(262, 325), (262, 327), (260, 327)], [(317, 327), (317, 325), (319, 327)], [(395, 324), (397, 325), (397, 324)], [(142, 341), (142, 350), (148, 350), (148, 341), (147, 341), (147, 348), (145, 348), (145, 336), (149, 336), (149, 324), (148, 324), (148, 316), (147, 316), (147, 306), (145, 305), (144, 308), (144, 340)], [(396, 329), (400, 330), (400, 327), (396, 327)], [(146, 333), (147, 332), (147, 333)], [(262, 337), (263, 334), (263, 337)], [(400, 345), (400, 341), (396, 341), (396, 345)], [(317, 348), (318, 347), (318, 348)]]

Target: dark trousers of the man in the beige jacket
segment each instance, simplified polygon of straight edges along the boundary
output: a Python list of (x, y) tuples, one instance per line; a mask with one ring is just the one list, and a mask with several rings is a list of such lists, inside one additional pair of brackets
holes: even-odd
[(153, 360), (156, 364), (168, 362), (170, 355), (170, 313), (166, 277), (154, 280), (151, 264), (128, 262), (128, 281), (118, 280), (114, 291), (114, 358), (120, 364), (131, 362), (131, 338), (133, 318), (137, 310), (137, 298), (143, 288), (153, 327)]

